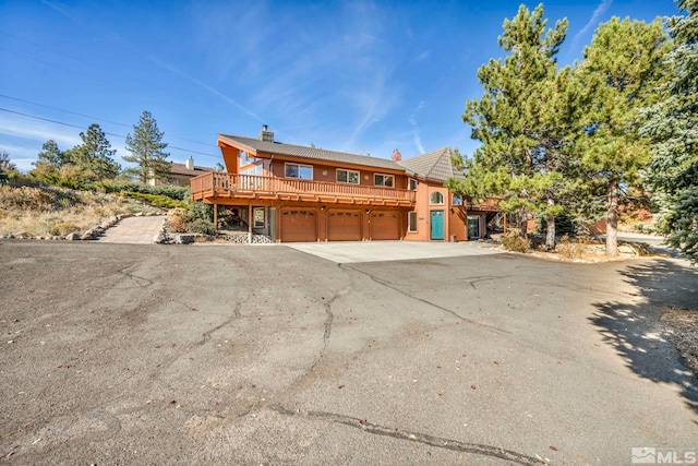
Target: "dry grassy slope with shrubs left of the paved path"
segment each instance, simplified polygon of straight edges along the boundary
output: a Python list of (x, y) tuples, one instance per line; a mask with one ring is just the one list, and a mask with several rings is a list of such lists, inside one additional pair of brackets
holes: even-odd
[(116, 194), (0, 187), (0, 235), (43, 238), (84, 232), (112, 215), (159, 212)]

